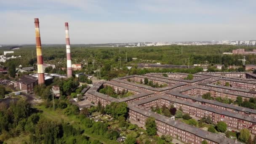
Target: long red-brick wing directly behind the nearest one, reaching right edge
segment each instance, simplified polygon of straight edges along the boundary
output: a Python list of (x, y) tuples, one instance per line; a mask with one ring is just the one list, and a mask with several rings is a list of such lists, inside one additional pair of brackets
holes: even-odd
[(247, 117), (246, 115), (230, 112), (219, 107), (209, 107), (205, 104), (184, 101), (169, 96), (152, 96), (148, 99), (143, 99), (143, 101), (137, 101), (135, 104), (148, 110), (151, 107), (162, 107), (163, 105), (170, 107), (173, 104), (177, 109), (181, 107), (184, 113), (188, 113), (194, 117), (203, 118), (210, 116), (213, 123), (223, 121), (227, 123), (228, 127), (238, 130), (247, 128), (251, 133), (256, 134), (256, 119), (254, 116)]

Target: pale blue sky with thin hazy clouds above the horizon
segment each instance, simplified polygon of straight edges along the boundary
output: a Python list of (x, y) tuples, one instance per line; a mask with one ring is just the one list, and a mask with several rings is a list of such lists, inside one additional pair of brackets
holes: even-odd
[(1, 0), (2, 44), (256, 40), (255, 0)]

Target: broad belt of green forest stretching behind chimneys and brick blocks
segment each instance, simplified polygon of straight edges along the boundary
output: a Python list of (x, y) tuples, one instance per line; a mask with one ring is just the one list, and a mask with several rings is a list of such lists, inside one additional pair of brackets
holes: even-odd
[[(137, 69), (136, 63), (149, 62), (161, 64), (188, 65), (189, 64), (224, 64), (241, 66), (243, 55), (227, 55), (223, 52), (232, 52), (233, 49), (245, 48), (245, 51), (252, 51), (255, 47), (235, 46), (235, 45), (166, 45), (133, 48), (92, 48), (78, 47), (73, 45), (71, 55), (72, 64), (83, 64), (84, 69), (77, 72), (93, 74), (93, 70), (101, 71), (99, 77), (109, 79), (112, 77), (125, 76), (127, 74), (144, 74), (145, 72), (188, 72), (195, 73), (198, 69)], [(5, 49), (0, 49), (0, 54)], [(33, 45), (23, 46), (19, 50), (14, 50), (13, 54), (21, 58), (11, 59), (1, 63), (4, 67), (11, 67), (13, 64), (18, 67), (36, 66), (36, 49)], [(132, 59), (137, 58), (137, 59)], [(56, 69), (52, 72), (65, 74), (61, 67), (66, 67), (66, 49), (64, 45), (43, 45), (44, 63), (56, 64)], [(255, 55), (246, 55), (246, 64), (256, 64)], [(87, 65), (88, 64), (88, 65)], [(126, 66), (133, 66), (128, 70)], [(122, 69), (120, 69), (122, 68)], [(135, 69), (134, 69), (135, 68)], [(211, 70), (214, 71), (214, 70)], [(77, 73), (74, 72), (74, 73)]]

